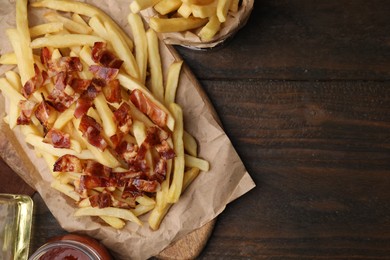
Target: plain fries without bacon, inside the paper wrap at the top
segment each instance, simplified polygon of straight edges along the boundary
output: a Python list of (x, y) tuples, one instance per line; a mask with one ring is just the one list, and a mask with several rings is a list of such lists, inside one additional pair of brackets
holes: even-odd
[(228, 13), (237, 13), (240, 0), (134, 0), (134, 13), (153, 8), (157, 16), (150, 18), (149, 26), (156, 32), (183, 32), (197, 30), (203, 42), (213, 39), (228, 19)]

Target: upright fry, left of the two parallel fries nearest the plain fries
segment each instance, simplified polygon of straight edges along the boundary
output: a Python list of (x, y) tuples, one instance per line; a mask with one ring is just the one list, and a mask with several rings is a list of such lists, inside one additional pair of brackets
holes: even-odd
[(142, 84), (145, 84), (146, 69), (148, 65), (148, 45), (145, 27), (141, 16), (138, 14), (130, 13), (127, 19), (134, 35), (135, 59), (139, 69), (139, 80)]

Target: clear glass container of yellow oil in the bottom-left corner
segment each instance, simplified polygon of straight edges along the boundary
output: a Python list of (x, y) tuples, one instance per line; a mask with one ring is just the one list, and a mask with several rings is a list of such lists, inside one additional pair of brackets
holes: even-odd
[(0, 194), (0, 259), (28, 258), (32, 212), (29, 196)]

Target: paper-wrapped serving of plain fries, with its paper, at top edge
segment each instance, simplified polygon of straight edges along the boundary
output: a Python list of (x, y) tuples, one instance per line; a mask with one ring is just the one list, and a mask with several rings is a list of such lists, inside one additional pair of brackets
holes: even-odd
[(141, 12), (167, 44), (192, 49), (213, 48), (231, 38), (247, 22), (254, 0), (135, 0)]

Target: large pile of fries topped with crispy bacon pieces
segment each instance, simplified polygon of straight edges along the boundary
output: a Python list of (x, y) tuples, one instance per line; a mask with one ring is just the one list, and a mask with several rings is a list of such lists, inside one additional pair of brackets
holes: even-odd
[(0, 78), (4, 121), (44, 158), (51, 187), (74, 200), (76, 217), (98, 216), (121, 229), (126, 221), (142, 225), (139, 216), (148, 213), (158, 229), (209, 170), (175, 101), (182, 61), (164, 80), (156, 32), (139, 14), (128, 15), (132, 39), (86, 3), (31, 3), (47, 9), (46, 23), (31, 27), (27, 5), (16, 0), (16, 28), (6, 31), (14, 52), (0, 57), (18, 69)]

